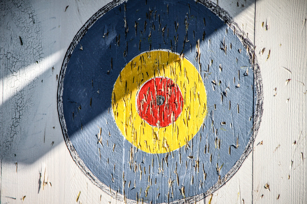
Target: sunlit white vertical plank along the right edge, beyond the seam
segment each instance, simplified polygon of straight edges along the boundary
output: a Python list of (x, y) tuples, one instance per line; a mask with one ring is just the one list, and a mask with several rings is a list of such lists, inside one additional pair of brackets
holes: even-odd
[(264, 111), (254, 145), (254, 203), (307, 202), (306, 17), (306, 1), (256, 2)]

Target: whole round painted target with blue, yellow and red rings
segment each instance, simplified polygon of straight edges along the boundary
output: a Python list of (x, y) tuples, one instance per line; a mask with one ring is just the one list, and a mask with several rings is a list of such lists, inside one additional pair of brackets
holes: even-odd
[(114, 1), (63, 61), (58, 112), (72, 158), (127, 202), (194, 202), (251, 151), (261, 117), (252, 44), (209, 1)]

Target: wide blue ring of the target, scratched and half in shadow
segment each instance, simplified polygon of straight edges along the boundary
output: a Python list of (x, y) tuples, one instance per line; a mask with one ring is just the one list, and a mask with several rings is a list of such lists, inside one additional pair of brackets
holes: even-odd
[[(153, 10), (151, 16), (150, 9)], [(124, 18), (129, 28), (126, 36)], [(204, 18), (206, 25), (204, 25)], [(188, 42), (183, 49), (186, 34), (185, 19), (188, 23)], [(147, 25), (144, 32), (145, 21)], [(177, 22), (179, 23), (177, 31), (174, 21), (176, 26)], [(135, 22), (138, 23), (137, 32), (134, 28)], [(163, 36), (162, 28), (164, 27), (166, 28)], [(223, 165), (220, 170), (221, 178), (233, 167), (252, 136), (254, 73), (241, 41), (233, 34), (233, 31), (228, 30), (226, 33), (226, 29), (229, 29), (227, 24), (200, 3), (177, 0), (147, 1), (147, 5), (143, 0), (128, 1), (126, 11), (124, 4), (116, 6), (96, 20), (88, 29), (76, 45), (67, 64), (63, 82), (63, 113), (69, 140), (80, 159), (103, 184), (120, 194), (123, 194), (124, 190), (126, 197), (132, 200), (136, 200), (138, 195), (138, 198), (143, 198), (146, 202), (171, 202), (183, 198), (180, 190), (182, 186), (185, 187), (185, 197), (205, 193), (212, 187), (219, 176), (216, 163), (219, 166)], [(193, 31), (195, 31), (194, 34)], [(151, 38), (148, 37), (150, 32)], [(175, 43), (174, 36), (177, 38), (177, 34), (178, 42)], [(116, 39), (118, 40), (119, 35), (118, 45)], [(198, 39), (200, 39), (201, 70), (196, 61)], [(223, 47), (224, 39), (227, 45), (226, 55), (220, 49)], [(140, 40), (141, 49), (139, 50)], [(230, 43), (232, 49), (230, 49)], [(150, 44), (151, 50), (169, 49), (177, 53), (183, 52), (185, 57), (194, 64), (203, 77), (207, 90), (208, 116), (204, 121), (204, 129), (201, 129), (189, 142), (189, 147), (184, 146), (180, 150), (173, 151), (168, 156), (168, 164), (163, 159), (167, 154), (148, 154), (138, 150), (134, 153), (134, 163), (130, 169), (131, 144), (124, 139), (111, 114), (111, 93), (120, 71), (136, 55), (148, 51)], [(81, 45), (83, 50), (79, 49)], [(128, 50), (126, 50), (127, 47)], [(125, 50), (126, 56), (124, 56)], [(113, 69), (111, 69), (111, 58)], [(212, 64), (211, 60), (213, 60)], [(209, 72), (207, 72), (208, 64), (211, 64)], [(222, 71), (219, 69), (220, 65)], [(247, 67), (249, 72), (247, 76), (244, 76)], [(215, 81), (217, 85), (214, 85), (212, 81)], [(219, 81), (221, 81), (220, 85)], [(240, 87), (235, 88), (238, 83)], [(221, 102), (221, 95), (223, 95), (223, 102)], [(230, 110), (229, 101), (231, 101)], [(226, 124), (222, 125), (222, 122)], [(98, 127), (102, 127), (102, 145), (97, 143)], [(237, 137), (239, 137), (239, 146), (235, 148)], [(216, 138), (221, 141), (220, 149), (215, 146)], [(209, 153), (204, 154), (204, 148), (208, 144)], [(231, 155), (228, 154), (229, 146), (231, 146)], [(99, 148), (101, 154), (99, 154)], [(181, 152), (181, 163), (179, 152)], [(212, 162), (210, 162), (211, 154)], [(197, 159), (199, 159), (199, 172), (195, 169)], [(161, 167), (162, 163), (164, 171), (159, 171), (159, 164)], [(134, 172), (135, 164), (138, 165), (136, 172)], [(176, 164), (179, 186), (174, 173)], [(139, 166), (142, 170), (141, 179)], [(207, 173), (206, 180), (204, 180), (203, 166)], [(125, 172), (124, 178), (123, 172)], [(148, 182), (149, 175), (152, 185)], [(174, 181), (171, 187), (169, 187), (169, 179)], [(122, 183), (123, 180), (125, 185)], [(130, 187), (128, 187), (129, 182)]]

